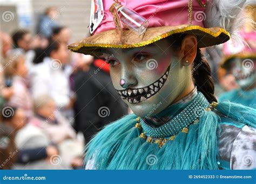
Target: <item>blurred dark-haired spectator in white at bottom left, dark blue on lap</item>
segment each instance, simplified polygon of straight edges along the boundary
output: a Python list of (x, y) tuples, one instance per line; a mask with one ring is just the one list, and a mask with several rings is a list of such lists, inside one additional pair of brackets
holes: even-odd
[[(49, 138), (40, 129), (26, 123), (24, 111), (6, 107), (3, 113), (3, 124), (11, 126), (15, 133), (17, 147), (17, 163), (13, 169), (65, 169), (63, 164), (56, 166), (49, 162), (51, 157), (58, 154), (56, 146), (50, 144)], [(8, 111), (11, 114), (7, 114)], [(9, 137), (9, 136), (8, 136)], [(10, 138), (10, 137), (9, 137)]]

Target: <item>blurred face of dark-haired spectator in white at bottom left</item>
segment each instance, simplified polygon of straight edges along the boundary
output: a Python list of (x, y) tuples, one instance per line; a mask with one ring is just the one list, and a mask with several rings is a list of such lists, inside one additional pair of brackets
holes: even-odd
[(12, 116), (10, 121), (6, 123), (10, 124), (15, 130), (23, 128), (23, 126), (26, 124), (26, 116), (23, 109), (17, 109), (14, 116)]

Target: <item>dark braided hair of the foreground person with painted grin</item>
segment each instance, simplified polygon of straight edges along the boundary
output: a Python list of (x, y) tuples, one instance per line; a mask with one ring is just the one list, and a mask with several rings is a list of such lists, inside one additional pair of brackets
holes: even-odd
[[(181, 41), (185, 36), (186, 34), (173, 34), (170, 36), (172, 48), (179, 49)], [(197, 55), (194, 59), (191, 72), (197, 90), (204, 94), (208, 102), (217, 102), (214, 96), (214, 82), (211, 75), (211, 68), (199, 48), (197, 48)]]

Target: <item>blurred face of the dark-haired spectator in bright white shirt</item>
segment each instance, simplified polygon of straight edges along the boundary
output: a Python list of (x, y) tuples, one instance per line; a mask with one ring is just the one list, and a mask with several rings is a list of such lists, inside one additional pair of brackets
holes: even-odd
[(58, 50), (51, 52), (51, 58), (61, 62), (63, 65), (69, 61), (69, 51), (64, 44), (60, 44)]

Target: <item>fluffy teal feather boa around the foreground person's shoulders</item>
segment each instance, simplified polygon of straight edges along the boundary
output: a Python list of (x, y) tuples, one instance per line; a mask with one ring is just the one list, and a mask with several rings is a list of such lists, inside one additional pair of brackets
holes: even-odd
[[(255, 127), (254, 109), (221, 102), (217, 110)], [(96, 169), (218, 169), (221, 118), (214, 111), (205, 111), (188, 133), (178, 133), (162, 148), (139, 138), (140, 131), (134, 128), (136, 118), (127, 115), (100, 131), (86, 146), (85, 162), (92, 159)]]

